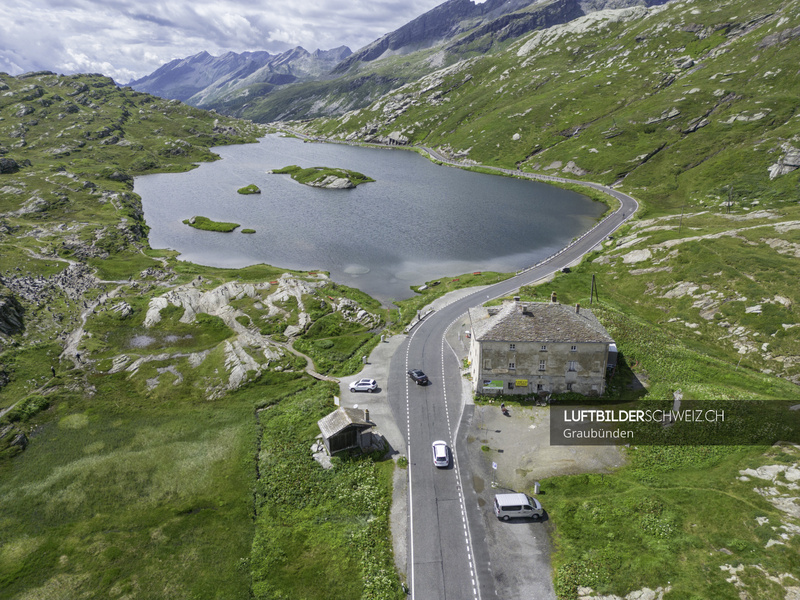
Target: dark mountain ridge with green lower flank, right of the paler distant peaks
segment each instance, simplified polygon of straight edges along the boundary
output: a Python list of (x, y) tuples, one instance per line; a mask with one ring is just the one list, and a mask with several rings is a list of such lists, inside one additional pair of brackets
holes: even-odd
[(446, 65), (502, 50), (530, 31), (563, 24), (608, 7), (665, 0), (448, 0), (343, 60), (336, 79), (288, 86), (209, 104), (260, 122), (341, 114)]

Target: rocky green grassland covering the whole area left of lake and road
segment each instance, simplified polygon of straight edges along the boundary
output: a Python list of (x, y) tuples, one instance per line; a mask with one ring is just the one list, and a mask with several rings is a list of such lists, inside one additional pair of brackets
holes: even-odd
[[(386, 311), (324, 273), (147, 241), (134, 175), (263, 133), (99, 75), (0, 74), (4, 598), (400, 594), (392, 461), (308, 451), (336, 391), (307, 371), (359, 370)], [(310, 511), (275, 494), (300, 472)], [(309, 518), (331, 525), (290, 535)], [(326, 577), (299, 581), (298, 556)]]

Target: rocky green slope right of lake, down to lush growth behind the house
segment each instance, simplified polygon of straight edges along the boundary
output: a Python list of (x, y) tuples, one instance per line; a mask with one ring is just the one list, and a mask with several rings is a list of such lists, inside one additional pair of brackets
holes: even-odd
[(796, 1), (609, 9), (290, 127), (621, 186), (642, 221), (585, 267), (606, 300), (800, 383), (798, 64)]

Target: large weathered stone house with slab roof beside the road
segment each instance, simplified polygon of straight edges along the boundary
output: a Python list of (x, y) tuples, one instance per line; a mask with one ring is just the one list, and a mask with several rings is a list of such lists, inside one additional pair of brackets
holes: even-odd
[(614, 340), (591, 310), (552, 302), (506, 302), (469, 310), (476, 394), (605, 390)]

